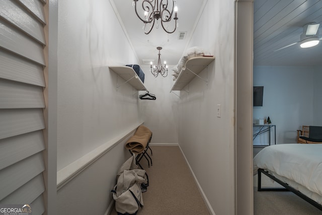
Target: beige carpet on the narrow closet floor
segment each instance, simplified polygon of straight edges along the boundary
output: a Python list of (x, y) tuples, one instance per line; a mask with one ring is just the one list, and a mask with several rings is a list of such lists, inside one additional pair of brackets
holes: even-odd
[[(209, 214), (179, 147), (151, 147), (153, 166), (140, 162), (149, 177), (144, 206), (137, 214)], [(150, 151), (148, 151), (150, 155)], [(115, 208), (112, 215), (116, 215)]]

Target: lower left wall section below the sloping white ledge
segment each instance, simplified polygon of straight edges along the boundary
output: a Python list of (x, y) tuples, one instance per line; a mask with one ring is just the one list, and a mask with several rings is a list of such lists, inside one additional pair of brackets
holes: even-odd
[(103, 215), (106, 212), (113, 199), (110, 191), (116, 184), (117, 171), (129, 157), (124, 150), (126, 140), (57, 191), (56, 214)]

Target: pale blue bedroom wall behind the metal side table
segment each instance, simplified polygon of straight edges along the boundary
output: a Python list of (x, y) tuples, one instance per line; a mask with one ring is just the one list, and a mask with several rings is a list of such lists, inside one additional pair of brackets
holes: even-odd
[[(313, 102), (319, 103), (322, 91), (316, 81), (319, 73), (314, 70), (314, 67), (254, 66), (254, 86), (264, 86), (264, 95), (263, 107), (254, 107), (253, 117), (254, 120), (270, 117), (272, 124), (276, 124), (277, 144), (297, 142), (296, 130), (315, 124)], [(258, 137), (255, 141), (263, 139)]]

